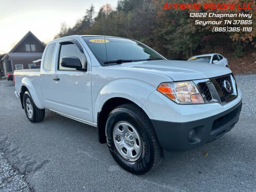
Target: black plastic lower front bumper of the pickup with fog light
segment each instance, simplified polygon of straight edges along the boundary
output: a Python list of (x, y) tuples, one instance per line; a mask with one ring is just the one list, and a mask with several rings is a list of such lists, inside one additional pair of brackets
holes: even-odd
[[(175, 123), (151, 119), (151, 122), (164, 151), (177, 152), (202, 146), (230, 131), (238, 122), (241, 109), (242, 100), (220, 114), (196, 121)], [(193, 129), (194, 137), (189, 141), (188, 134)]]

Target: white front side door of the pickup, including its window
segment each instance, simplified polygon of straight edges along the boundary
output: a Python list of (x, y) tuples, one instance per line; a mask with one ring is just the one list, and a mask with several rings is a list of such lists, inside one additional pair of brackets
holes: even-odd
[[(51, 98), (47, 99), (52, 110), (63, 115), (93, 122), (91, 104), (91, 60), (76, 39), (59, 43), (58, 61), (51, 80)], [(62, 57), (78, 58), (87, 71), (62, 67)]]

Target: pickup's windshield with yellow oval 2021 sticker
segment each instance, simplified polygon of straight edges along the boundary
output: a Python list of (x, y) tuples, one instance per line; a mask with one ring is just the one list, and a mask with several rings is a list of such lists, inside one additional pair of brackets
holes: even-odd
[(122, 61), (164, 59), (145, 45), (130, 39), (116, 37), (106, 37), (104, 39), (104, 37), (92, 36), (83, 37), (83, 39), (101, 65), (112, 63), (111, 61), (116, 65), (122, 63)]

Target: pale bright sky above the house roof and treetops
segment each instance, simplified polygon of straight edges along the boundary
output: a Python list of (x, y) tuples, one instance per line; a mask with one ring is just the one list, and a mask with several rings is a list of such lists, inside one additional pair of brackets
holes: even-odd
[(42, 42), (48, 43), (59, 33), (61, 23), (73, 27), (91, 5), (98, 12), (107, 3), (115, 9), (117, 1), (0, 0), (0, 54), (9, 52), (29, 30)]

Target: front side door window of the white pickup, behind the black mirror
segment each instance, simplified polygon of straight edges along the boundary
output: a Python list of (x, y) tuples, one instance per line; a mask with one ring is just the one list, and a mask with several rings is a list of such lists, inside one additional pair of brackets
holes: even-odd
[(64, 44), (61, 44), (58, 69), (59, 70), (76, 70), (73, 68), (62, 67), (60, 64), (62, 57), (76, 57), (80, 60), (84, 68), (85, 60), (86, 60), (85, 55), (84, 53), (81, 53), (81, 51), (78, 49), (78, 47), (74, 43), (65, 42)]

